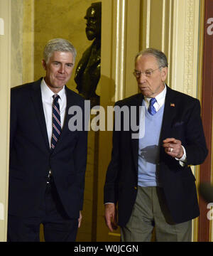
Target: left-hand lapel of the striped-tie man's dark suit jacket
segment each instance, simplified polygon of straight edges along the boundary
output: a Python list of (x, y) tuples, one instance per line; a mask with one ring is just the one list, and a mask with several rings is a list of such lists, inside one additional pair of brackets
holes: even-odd
[(50, 145), (48, 141), (48, 132), (46, 128), (46, 123), (45, 123), (45, 115), (43, 112), (43, 103), (42, 103), (42, 97), (41, 97), (41, 90), (40, 90), (40, 80), (36, 81), (33, 84), (32, 90), (31, 90), (31, 98), (33, 101), (33, 105), (35, 107), (35, 113), (38, 118), (38, 123), (40, 124), (40, 130), (43, 135), (43, 139), (45, 142), (45, 145), (47, 146), (48, 150), (50, 150)]

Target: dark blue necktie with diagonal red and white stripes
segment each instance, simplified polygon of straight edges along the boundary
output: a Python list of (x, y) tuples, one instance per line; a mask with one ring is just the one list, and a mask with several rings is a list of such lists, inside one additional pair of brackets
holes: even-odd
[(53, 95), (53, 135), (51, 141), (51, 149), (55, 149), (55, 145), (61, 134), (61, 123), (60, 123), (60, 107), (58, 103), (59, 95)]

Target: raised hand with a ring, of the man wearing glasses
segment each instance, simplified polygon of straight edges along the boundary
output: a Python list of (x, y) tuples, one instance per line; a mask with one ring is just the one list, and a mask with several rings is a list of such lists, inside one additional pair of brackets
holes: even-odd
[(184, 151), (181, 146), (181, 142), (179, 139), (168, 138), (164, 139), (163, 147), (165, 148), (165, 153), (170, 156), (176, 157), (180, 159), (184, 154)]

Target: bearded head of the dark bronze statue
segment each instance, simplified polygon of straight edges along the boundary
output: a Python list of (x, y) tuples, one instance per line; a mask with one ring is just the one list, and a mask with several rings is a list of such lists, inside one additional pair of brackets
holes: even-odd
[(102, 2), (92, 3), (84, 17), (87, 20), (86, 34), (89, 41), (101, 38), (102, 31)]

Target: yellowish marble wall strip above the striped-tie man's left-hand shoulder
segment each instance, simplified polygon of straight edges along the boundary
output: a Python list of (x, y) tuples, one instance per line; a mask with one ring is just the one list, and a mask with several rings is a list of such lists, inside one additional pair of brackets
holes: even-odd
[(11, 87), (31, 82), (34, 66), (34, 0), (11, 1)]

